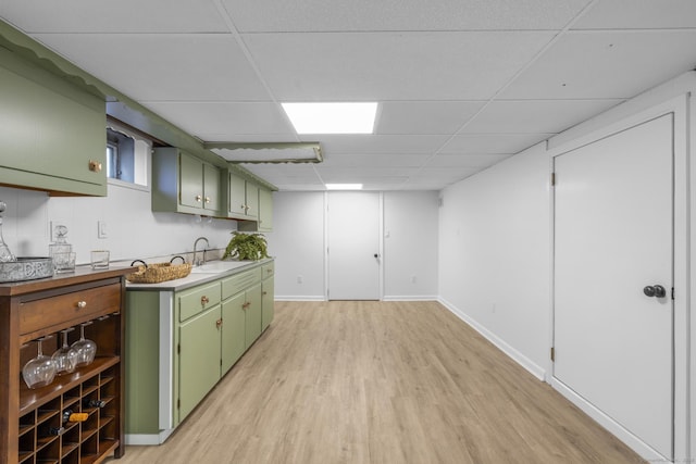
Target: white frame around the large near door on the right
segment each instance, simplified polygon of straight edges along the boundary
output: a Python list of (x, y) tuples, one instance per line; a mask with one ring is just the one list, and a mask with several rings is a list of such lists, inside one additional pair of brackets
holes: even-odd
[[(674, 95), (679, 95), (674, 97)], [(651, 97), (651, 98), (650, 98)], [(648, 96), (648, 100), (655, 100), (655, 95)], [(644, 103), (643, 109), (636, 111), (633, 115), (626, 115), (625, 113), (613, 115), (612, 121), (602, 121), (607, 116), (600, 116), (597, 121), (591, 120), (585, 126), (591, 129), (580, 133), (575, 138), (568, 138), (567, 141), (551, 147), (548, 147), (549, 152), (549, 177), (554, 172), (554, 160), (556, 156), (575, 150), (588, 143), (592, 143), (601, 138), (611, 136), (613, 134), (626, 130), (638, 124), (648, 122), (664, 114), (672, 113), (674, 121), (673, 133), (673, 150), (674, 150), (674, 202), (673, 202), (673, 250), (674, 250), (674, 289), (675, 300), (673, 302), (673, 364), (672, 364), (672, 379), (673, 379), (673, 417), (674, 424), (672, 425), (673, 435), (673, 456), (674, 460), (691, 459), (692, 450), (691, 441), (691, 424), (689, 421), (694, 419), (694, 411), (689, 414), (691, 398), (689, 398), (689, 363), (691, 363), (691, 334), (689, 334), (689, 298), (691, 298), (691, 283), (689, 283), (689, 265), (691, 260), (689, 252), (689, 237), (688, 237), (688, 221), (689, 221), (689, 198), (688, 198), (688, 104), (689, 96), (686, 92), (674, 93), (670, 96), (671, 99), (662, 100), (662, 103), (657, 103), (648, 106)], [(691, 102), (693, 104), (693, 102)], [(633, 105), (635, 106), (635, 105)], [(618, 112), (622, 110), (619, 108)], [(629, 109), (631, 110), (631, 109)], [(604, 126), (604, 127), (602, 127)], [(579, 127), (581, 130), (585, 127)], [(571, 135), (572, 137), (572, 135)], [(549, 195), (549, 208), (550, 208), (550, 312), (549, 312), (549, 352), (554, 347), (554, 329), (555, 329), (555, 195), (551, 191)], [(546, 381), (549, 383), (556, 390), (568, 398), (571, 402), (583, 410), (587, 415), (593, 417), (599, 424), (601, 424), (609, 431), (619, 437), (623, 442), (629, 444), (634, 451), (641, 454), (647, 460), (661, 460), (663, 456), (658, 454), (655, 450), (639, 440), (637, 437), (625, 430), (620, 424), (612, 418), (604, 414), (600, 410), (589, 404), (586, 400), (577, 396), (574, 391), (560, 383), (554, 376), (554, 362), (548, 360)], [(696, 401), (696, 398), (694, 398)], [(691, 418), (689, 418), (691, 417)]]

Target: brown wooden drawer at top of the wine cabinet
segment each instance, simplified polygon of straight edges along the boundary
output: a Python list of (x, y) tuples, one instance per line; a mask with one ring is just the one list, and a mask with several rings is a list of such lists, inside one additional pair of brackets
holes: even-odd
[(120, 284), (25, 301), (20, 303), (20, 334), (58, 330), (120, 309)]

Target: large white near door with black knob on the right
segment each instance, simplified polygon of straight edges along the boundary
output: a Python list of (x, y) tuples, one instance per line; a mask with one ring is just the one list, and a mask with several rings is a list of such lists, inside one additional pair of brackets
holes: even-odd
[(554, 375), (669, 459), (672, 133), (667, 114), (555, 159)]

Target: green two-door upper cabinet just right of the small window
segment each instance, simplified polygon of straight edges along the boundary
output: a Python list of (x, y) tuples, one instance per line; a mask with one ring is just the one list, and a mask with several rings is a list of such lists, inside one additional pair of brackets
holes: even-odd
[(177, 148), (154, 150), (152, 211), (220, 215), (220, 168)]

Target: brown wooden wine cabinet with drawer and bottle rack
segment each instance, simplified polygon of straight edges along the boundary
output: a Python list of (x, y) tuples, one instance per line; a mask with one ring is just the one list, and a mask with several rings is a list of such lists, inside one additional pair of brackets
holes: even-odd
[[(91, 464), (123, 455), (124, 275), (77, 271), (30, 284), (0, 284), (0, 464)], [(60, 348), (60, 330), (92, 322), (94, 362), (30, 389), (22, 366)], [(70, 343), (77, 340), (71, 333)], [(72, 415), (70, 414), (72, 413)]]

